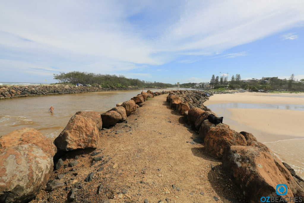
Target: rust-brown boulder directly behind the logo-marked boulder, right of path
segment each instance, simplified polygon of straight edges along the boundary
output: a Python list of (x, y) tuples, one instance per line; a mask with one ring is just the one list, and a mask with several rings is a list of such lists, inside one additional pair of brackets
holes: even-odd
[(247, 142), (243, 135), (230, 128), (209, 128), (204, 138), (204, 146), (211, 156), (222, 158), (230, 145), (247, 145)]

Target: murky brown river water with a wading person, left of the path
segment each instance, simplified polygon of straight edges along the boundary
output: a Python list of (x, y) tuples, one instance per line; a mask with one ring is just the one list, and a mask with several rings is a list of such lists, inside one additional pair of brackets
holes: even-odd
[[(105, 112), (140, 93), (141, 90), (107, 91), (0, 100), (0, 136), (27, 127), (55, 139), (77, 111)], [(53, 114), (50, 106), (54, 107)]]

